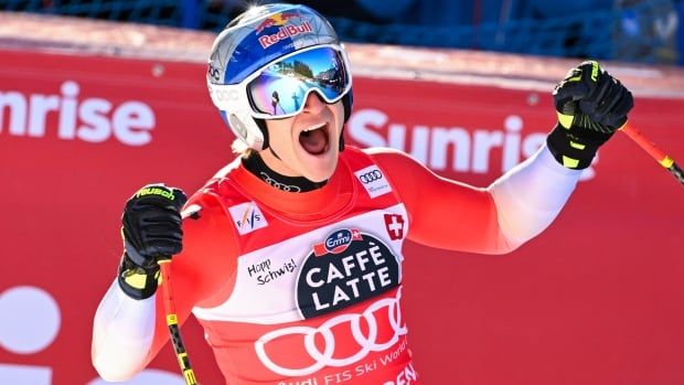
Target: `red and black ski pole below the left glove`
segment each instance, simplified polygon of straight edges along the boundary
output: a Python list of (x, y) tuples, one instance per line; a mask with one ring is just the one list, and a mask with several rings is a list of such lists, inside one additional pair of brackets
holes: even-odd
[(197, 385), (195, 374), (190, 366), (188, 352), (185, 352), (185, 346), (183, 345), (183, 340), (181, 339), (181, 329), (178, 325), (175, 298), (173, 297), (173, 286), (171, 282), (171, 256), (160, 256), (158, 257), (157, 263), (159, 264), (159, 269), (162, 277), (161, 288), (164, 300), (164, 310), (167, 312), (167, 325), (169, 325), (173, 351), (175, 352), (183, 378), (185, 378), (185, 384)]

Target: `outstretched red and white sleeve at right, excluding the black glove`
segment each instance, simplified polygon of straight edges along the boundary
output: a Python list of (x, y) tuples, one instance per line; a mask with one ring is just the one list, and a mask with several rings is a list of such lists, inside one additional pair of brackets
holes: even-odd
[(450, 250), (503, 254), (544, 231), (580, 171), (558, 164), (546, 147), (487, 189), (436, 175), (409, 156), (371, 151), (409, 213), (408, 238)]

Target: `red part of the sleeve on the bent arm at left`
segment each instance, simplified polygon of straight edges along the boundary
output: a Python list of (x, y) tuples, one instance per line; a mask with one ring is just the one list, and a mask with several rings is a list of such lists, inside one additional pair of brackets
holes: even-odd
[[(186, 210), (191, 206), (186, 206)], [(183, 220), (183, 252), (171, 263), (175, 310), (180, 324), (193, 307), (222, 290), (232, 290), (237, 265), (237, 243), (232, 223), (213, 199), (202, 210)], [(163, 282), (162, 282), (163, 285)], [(169, 340), (161, 287), (157, 291), (154, 340), (148, 354), (152, 360)]]

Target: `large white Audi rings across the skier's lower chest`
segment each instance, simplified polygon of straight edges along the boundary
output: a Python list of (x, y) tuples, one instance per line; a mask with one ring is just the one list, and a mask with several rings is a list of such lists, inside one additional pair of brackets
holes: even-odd
[[(323, 322), (323, 324), (318, 328), (291, 327), (268, 332), (255, 342), (257, 356), (261, 363), (272, 372), (284, 376), (299, 377), (316, 373), (325, 366), (342, 367), (352, 365), (364, 359), (370, 352), (385, 351), (394, 345), (399, 340), (399, 336), (408, 332), (406, 325), (402, 324), (402, 309), (399, 308), (400, 291), (400, 289), (397, 290), (397, 295), (394, 298), (383, 298), (374, 302), (361, 314), (340, 314)], [(392, 338), (385, 342), (377, 341), (378, 324), (374, 313), (381, 309), (387, 309), (388, 327), (394, 331)], [(354, 341), (359, 344), (359, 351), (346, 357), (335, 357), (335, 335), (332, 330), (346, 322), (351, 325)], [(362, 324), (367, 325), (367, 334), (363, 333), (361, 329)], [(303, 367), (285, 367), (274, 362), (268, 354), (266, 354), (266, 344), (276, 339), (287, 339), (296, 334), (301, 334), (303, 336), (303, 345), (313, 362), (312, 364)], [(318, 334), (323, 338), (325, 344), (322, 352), (314, 343), (314, 339)]]

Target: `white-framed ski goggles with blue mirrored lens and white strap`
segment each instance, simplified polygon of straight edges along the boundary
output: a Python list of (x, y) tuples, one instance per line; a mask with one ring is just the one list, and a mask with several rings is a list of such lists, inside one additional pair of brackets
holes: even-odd
[(336, 45), (317, 45), (278, 57), (239, 84), (211, 84), (210, 92), (222, 110), (247, 109), (255, 118), (280, 119), (301, 113), (311, 92), (334, 104), (351, 87), (344, 52)]

